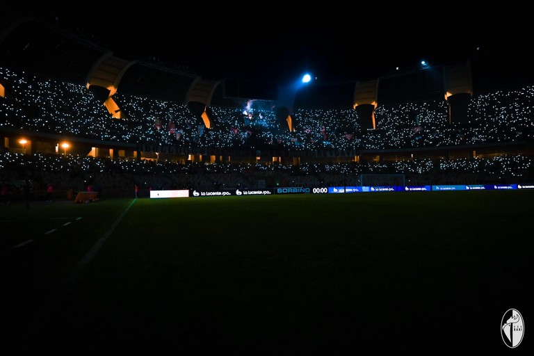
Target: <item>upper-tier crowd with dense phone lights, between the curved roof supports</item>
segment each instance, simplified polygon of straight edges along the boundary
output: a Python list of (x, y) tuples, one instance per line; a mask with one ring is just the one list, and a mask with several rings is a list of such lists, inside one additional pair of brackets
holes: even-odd
[[(291, 114), (293, 131), (272, 109), (210, 107), (212, 128), (186, 104), (122, 95), (113, 99), (124, 118), (113, 120), (84, 86), (38, 78), (0, 67), (8, 97), (0, 100), (0, 127), (121, 143), (185, 147), (268, 149), (405, 149), (534, 138), (534, 87), (473, 97), (467, 123), (448, 122), (445, 99), (383, 105), (376, 129), (362, 129), (353, 109), (304, 110)], [(285, 118), (283, 118), (285, 119)], [(285, 127), (284, 127), (285, 125)]]

